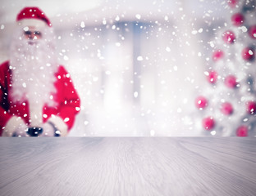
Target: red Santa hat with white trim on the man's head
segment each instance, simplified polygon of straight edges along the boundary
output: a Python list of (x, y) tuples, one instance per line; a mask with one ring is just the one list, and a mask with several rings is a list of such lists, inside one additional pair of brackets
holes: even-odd
[(38, 7), (25, 7), (17, 15), (16, 21), (23, 26), (52, 26), (50, 20)]

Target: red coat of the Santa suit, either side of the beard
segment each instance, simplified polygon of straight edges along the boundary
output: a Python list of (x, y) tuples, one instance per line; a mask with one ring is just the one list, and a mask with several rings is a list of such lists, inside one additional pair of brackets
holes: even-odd
[[(59, 66), (55, 73), (56, 93), (53, 94), (53, 100), (56, 105), (50, 107), (43, 105), (42, 116), (36, 119), (38, 122), (53, 122), (59, 130), (71, 129), (75, 121), (75, 114), (80, 110), (80, 99), (72, 84), (70, 75), (63, 66)], [(9, 63), (5, 62), (0, 65), (0, 134), (6, 126), (10, 118), (15, 115), (21, 117), (24, 122), (30, 126), (34, 124), (31, 117), (30, 103), (24, 101), (22, 103), (11, 101), (9, 92), (11, 91), (11, 69)], [(34, 115), (34, 114), (32, 114)], [(65, 135), (65, 134), (64, 134)]]

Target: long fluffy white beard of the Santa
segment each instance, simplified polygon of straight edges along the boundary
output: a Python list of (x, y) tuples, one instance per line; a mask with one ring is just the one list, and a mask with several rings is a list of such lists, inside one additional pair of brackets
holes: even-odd
[[(46, 33), (44, 32), (46, 35)], [(50, 35), (48, 35), (50, 36)], [(30, 107), (54, 106), (57, 60), (49, 39), (27, 40), (17, 36), (11, 45), (11, 98), (28, 100)]]

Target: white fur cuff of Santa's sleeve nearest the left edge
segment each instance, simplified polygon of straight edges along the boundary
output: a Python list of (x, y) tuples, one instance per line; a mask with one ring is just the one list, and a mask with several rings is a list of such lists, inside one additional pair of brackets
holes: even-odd
[(2, 130), (2, 136), (12, 136), (16, 129), (21, 125), (25, 125), (25, 122), (21, 119), (21, 117), (11, 117)]

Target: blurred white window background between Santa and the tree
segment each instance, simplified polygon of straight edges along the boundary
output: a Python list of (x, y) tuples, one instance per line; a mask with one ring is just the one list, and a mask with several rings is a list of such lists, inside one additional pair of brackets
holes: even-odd
[(80, 95), (69, 136), (201, 136), (186, 116), (228, 15), (224, 1), (2, 0), (1, 62), (28, 6), (51, 20), (59, 62)]

